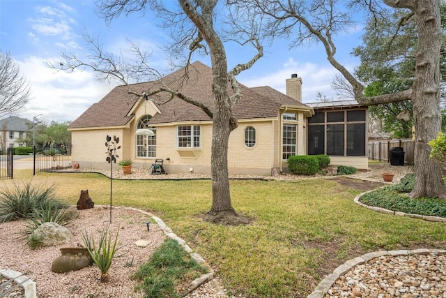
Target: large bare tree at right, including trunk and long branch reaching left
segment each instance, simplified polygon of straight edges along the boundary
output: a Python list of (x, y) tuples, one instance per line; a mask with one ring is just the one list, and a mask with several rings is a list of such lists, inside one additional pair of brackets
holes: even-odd
[[(260, 9), (269, 17), (268, 29), (273, 38), (289, 38), (291, 46), (322, 43), (330, 64), (353, 87), (355, 99), (362, 105), (378, 105), (412, 100), (415, 125), (415, 186), (410, 196), (445, 198), (442, 170), (429, 158), (428, 142), (441, 130), (440, 48), (443, 31), (440, 0), (351, 0), (286, 1), (247, 0), (244, 5)], [(383, 5), (384, 3), (384, 5)], [(348, 4), (347, 7), (345, 7)], [(364, 85), (334, 57), (334, 36), (355, 24), (359, 9), (374, 19), (397, 8), (403, 15), (415, 17), (417, 48), (415, 75), (410, 88), (389, 94), (367, 97)], [(404, 19), (401, 20), (403, 22)], [(408, 52), (410, 49), (407, 49)]]

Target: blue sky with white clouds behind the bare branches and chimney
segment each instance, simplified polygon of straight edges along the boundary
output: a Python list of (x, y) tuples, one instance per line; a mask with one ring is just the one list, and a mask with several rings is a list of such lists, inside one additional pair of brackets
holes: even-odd
[[(16, 116), (32, 120), (42, 114), (39, 119), (46, 121), (72, 121), (119, 84), (98, 82), (89, 70), (63, 73), (47, 68), (47, 61), (61, 60), (64, 49), (86, 51), (84, 29), (98, 37), (109, 52), (128, 47), (127, 40), (132, 40), (153, 52), (153, 65), (162, 68), (166, 63), (165, 54), (157, 45), (167, 40), (167, 34), (148, 15), (123, 16), (107, 26), (95, 13), (91, 0), (0, 0), (0, 49), (10, 52), (31, 83), (33, 93), (26, 110)], [(359, 62), (349, 53), (360, 45), (360, 30), (337, 36), (337, 45), (337, 59), (352, 70)], [(229, 69), (247, 62), (252, 52), (252, 49), (226, 45)], [(336, 97), (330, 88), (336, 71), (328, 63), (321, 45), (289, 50), (282, 40), (266, 46), (264, 52), (252, 68), (238, 76), (240, 83), (248, 87), (268, 85), (285, 93), (286, 78), (297, 73), (303, 81), (304, 103), (316, 101), (318, 91)], [(206, 57), (194, 60), (210, 66)]]

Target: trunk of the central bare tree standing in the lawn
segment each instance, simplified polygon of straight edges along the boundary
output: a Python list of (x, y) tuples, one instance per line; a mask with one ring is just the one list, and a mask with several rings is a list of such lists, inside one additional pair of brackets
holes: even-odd
[(229, 134), (237, 127), (237, 121), (231, 111), (231, 100), (228, 94), (228, 63), (222, 40), (213, 29), (212, 11), (217, 1), (199, 1), (201, 15), (187, 0), (179, 0), (186, 15), (199, 29), (197, 41), (206, 40), (210, 50), (213, 71), (213, 131), (210, 156), (210, 174), (212, 177), (212, 207), (204, 216), (210, 223), (238, 225), (249, 223), (245, 216), (239, 216), (231, 205), (228, 173)]

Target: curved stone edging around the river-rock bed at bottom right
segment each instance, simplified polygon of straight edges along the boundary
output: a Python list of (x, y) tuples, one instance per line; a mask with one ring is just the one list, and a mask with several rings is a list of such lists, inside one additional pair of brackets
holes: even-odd
[(364, 255), (361, 255), (360, 257), (353, 258), (351, 260), (348, 260), (344, 262), (343, 265), (337, 267), (334, 269), (332, 274), (328, 274), (328, 276), (325, 276), (325, 278), (316, 286), (314, 291), (307, 296), (307, 298), (323, 298), (325, 295), (328, 294), (328, 290), (332, 288), (332, 285), (337, 281), (337, 279), (356, 265), (362, 265), (365, 262), (369, 262), (369, 260), (372, 260), (374, 258), (379, 258), (383, 255), (391, 255), (391, 256), (398, 256), (398, 255), (427, 255), (429, 253), (436, 253), (436, 254), (446, 254), (446, 250), (443, 249), (428, 249), (428, 248), (419, 248), (414, 249), (411, 251), (407, 250), (399, 250), (399, 251), (374, 251), (372, 253), (366, 253)]

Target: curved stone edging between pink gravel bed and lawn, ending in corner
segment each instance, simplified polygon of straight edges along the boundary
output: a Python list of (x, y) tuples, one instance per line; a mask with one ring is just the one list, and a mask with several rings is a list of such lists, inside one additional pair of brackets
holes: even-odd
[[(97, 207), (109, 207), (109, 206), (105, 206), (105, 205), (98, 205)], [(197, 278), (194, 279), (194, 281), (192, 281), (189, 285), (189, 288), (187, 288), (187, 292), (192, 292), (194, 290), (196, 290), (197, 288), (199, 288), (200, 285), (203, 285), (203, 283), (207, 283), (208, 281), (213, 280), (214, 278), (214, 271), (212, 268), (210, 268), (210, 266), (206, 263), (206, 261), (201, 258), (201, 255), (199, 255), (198, 253), (195, 253), (192, 248), (190, 248), (190, 246), (188, 246), (186, 244), (186, 241), (184, 241), (183, 239), (181, 239), (180, 237), (178, 237), (174, 231), (172, 231), (171, 228), (169, 228), (164, 221), (162, 221), (161, 218), (158, 218), (157, 216), (154, 216), (153, 214), (151, 214), (150, 212), (147, 211), (143, 211), (141, 209), (137, 209), (137, 208), (133, 208), (133, 207), (114, 207), (115, 209), (129, 209), (132, 211), (138, 211), (142, 214), (145, 214), (147, 216), (150, 216), (151, 218), (153, 218), (153, 221), (155, 221), (158, 225), (158, 227), (160, 227), (160, 230), (162, 230), (162, 232), (164, 232), (164, 234), (171, 238), (174, 239), (181, 247), (183, 247), (183, 249), (186, 251), (186, 253), (189, 253), (190, 258), (192, 258), (193, 260), (197, 261), (200, 265), (204, 265), (206, 267), (208, 267), (209, 271), (206, 274), (203, 274)]]

